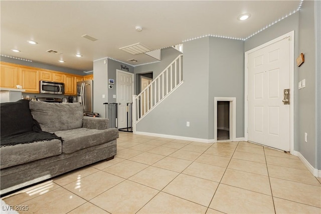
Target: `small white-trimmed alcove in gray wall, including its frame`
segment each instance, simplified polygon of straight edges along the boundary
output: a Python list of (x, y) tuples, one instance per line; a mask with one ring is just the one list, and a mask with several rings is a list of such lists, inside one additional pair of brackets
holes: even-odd
[(235, 141), (236, 97), (214, 97), (214, 141)]

